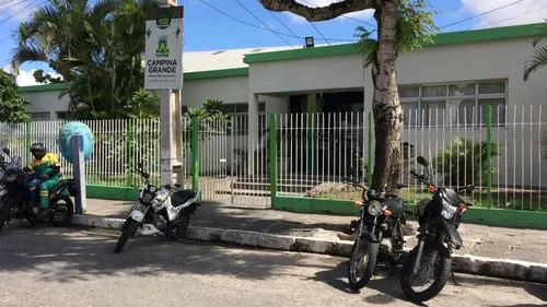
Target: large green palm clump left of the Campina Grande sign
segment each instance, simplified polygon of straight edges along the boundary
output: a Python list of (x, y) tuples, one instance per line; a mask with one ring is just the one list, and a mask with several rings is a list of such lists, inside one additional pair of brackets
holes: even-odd
[(125, 118), (143, 85), (144, 12), (155, 0), (49, 0), (16, 32), (12, 64), (46, 62), (79, 119)]

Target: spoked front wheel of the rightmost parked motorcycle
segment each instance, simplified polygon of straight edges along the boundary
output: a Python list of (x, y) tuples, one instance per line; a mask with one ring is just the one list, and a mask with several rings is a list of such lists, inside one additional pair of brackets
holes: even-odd
[[(400, 272), (400, 287), (405, 296), (415, 303), (422, 303), (435, 297), (444, 288), (452, 270), (452, 258), (449, 250), (439, 241), (426, 241), (420, 269), (414, 274), (414, 265), (418, 257), (416, 246), (405, 259)], [(416, 291), (415, 286), (424, 286)]]

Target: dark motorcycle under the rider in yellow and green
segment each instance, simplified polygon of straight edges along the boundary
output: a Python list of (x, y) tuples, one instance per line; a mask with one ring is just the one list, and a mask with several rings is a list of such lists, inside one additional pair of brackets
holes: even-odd
[[(2, 152), (10, 157), (10, 150), (2, 149)], [(59, 180), (59, 185), (49, 191), (49, 208), (51, 213), (40, 219), (39, 193), (37, 187), (44, 179), (31, 177), (27, 180), (26, 174), (21, 166), (21, 157), (10, 157), (11, 161), (5, 166), (5, 173), (0, 185), (0, 231), (3, 225), (11, 220), (26, 220), (34, 226), (45, 220), (55, 226), (67, 226), (72, 222), (74, 204), (70, 196), (75, 196), (75, 182), (73, 179)], [(25, 191), (25, 192), (24, 192)]]

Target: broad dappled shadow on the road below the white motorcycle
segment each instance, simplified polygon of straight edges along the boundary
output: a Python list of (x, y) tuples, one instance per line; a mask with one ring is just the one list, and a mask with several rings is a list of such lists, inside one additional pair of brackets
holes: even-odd
[(113, 250), (118, 236), (118, 232), (86, 235), (80, 227), (26, 229), (10, 224), (0, 233), (0, 271), (33, 271), (44, 281), (70, 283), (102, 275), (146, 278), (164, 273), (265, 280), (292, 274), (289, 267), (330, 268), (329, 263), (312, 264), (305, 257), (287, 257), (283, 252), (246, 249), (249, 252), (243, 253), (226, 245), (199, 241), (168, 246), (163, 236), (131, 238), (116, 255)]

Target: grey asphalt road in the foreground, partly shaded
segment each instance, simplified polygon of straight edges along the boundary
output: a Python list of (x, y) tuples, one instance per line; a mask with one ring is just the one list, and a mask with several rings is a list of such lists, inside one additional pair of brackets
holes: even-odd
[[(0, 306), (414, 306), (396, 276), (360, 293), (346, 282), (346, 259), (163, 237), (19, 226), (0, 233)], [(457, 275), (428, 306), (547, 306), (547, 285)]]

